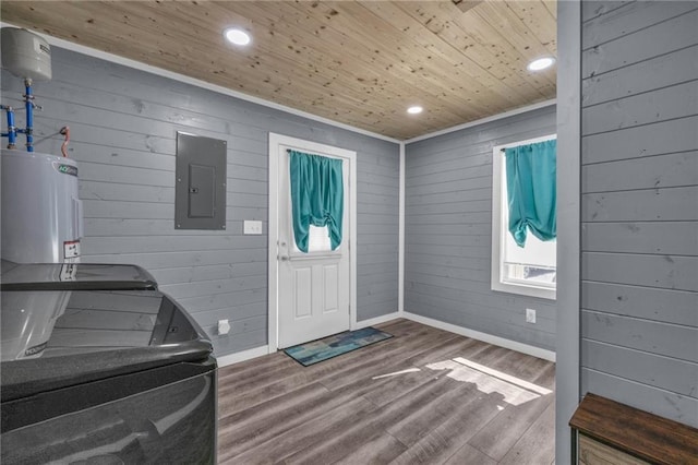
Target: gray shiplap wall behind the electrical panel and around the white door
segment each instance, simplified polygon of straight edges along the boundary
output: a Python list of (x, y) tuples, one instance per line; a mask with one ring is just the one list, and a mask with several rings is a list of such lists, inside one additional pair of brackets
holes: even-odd
[[(34, 86), (37, 151), (60, 153), (71, 128), (84, 202), (83, 261), (137, 263), (213, 337), (216, 355), (267, 338), (268, 132), (358, 153), (358, 319), (397, 311), (399, 146), (201, 87), (52, 49), (53, 79)], [(22, 82), (2, 72), (3, 104)], [(20, 115), (19, 122), (24, 123)], [(227, 230), (174, 230), (178, 130), (228, 142)], [(243, 236), (244, 219), (264, 222)], [(229, 319), (231, 333), (216, 335)]]

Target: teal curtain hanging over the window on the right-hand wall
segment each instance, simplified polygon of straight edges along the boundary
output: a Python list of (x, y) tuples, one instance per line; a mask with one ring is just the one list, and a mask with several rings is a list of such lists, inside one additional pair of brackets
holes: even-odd
[(505, 151), (509, 231), (519, 247), (527, 230), (541, 240), (557, 236), (556, 147), (545, 141)]

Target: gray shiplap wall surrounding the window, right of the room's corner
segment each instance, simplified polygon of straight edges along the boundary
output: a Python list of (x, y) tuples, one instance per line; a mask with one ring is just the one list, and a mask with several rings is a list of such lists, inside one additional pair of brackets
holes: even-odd
[(554, 301), (490, 289), (492, 150), (554, 133), (551, 106), (407, 145), (406, 311), (555, 349)]

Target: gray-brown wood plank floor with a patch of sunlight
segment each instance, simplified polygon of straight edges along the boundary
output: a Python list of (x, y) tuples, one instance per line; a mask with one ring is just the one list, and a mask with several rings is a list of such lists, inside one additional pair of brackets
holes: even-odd
[(408, 320), (376, 327), (395, 337), (308, 368), (284, 353), (221, 368), (218, 462), (553, 463), (554, 363)]

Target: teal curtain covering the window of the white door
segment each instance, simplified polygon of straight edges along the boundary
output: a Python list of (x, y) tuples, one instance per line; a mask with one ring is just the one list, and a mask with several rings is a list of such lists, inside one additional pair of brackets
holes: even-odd
[(327, 226), (332, 250), (341, 243), (345, 193), (341, 159), (288, 151), (296, 245), (308, 253), (310, 225)]

